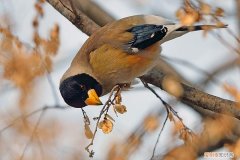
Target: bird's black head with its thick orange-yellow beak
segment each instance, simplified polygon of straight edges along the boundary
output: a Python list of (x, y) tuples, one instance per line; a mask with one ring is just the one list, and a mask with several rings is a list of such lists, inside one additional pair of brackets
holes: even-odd
[(78, 74), (65, 79), (59, 89), (64, 101), (72, 107), (102, 104), (99, 100), (102, 86), (88, 74)]

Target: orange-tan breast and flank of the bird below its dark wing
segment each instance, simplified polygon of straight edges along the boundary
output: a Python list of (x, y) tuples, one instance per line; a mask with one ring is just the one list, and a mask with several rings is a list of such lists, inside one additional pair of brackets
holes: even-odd
[(158, 44), (136, 54), (105, 44), (90, 53), (90, 65), (97, 79), (111, 89), (116, 84), (131, 82), (151, 69), (159, 52)]

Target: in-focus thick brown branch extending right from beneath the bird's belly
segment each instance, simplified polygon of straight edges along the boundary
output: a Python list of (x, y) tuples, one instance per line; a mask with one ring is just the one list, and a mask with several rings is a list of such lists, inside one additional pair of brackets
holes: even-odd
[[(160, 69), (159, 65), (156, 66), (148, 74), (142, 76), (141, 79), (163, 89), (162, 81), (167, 74)], [(227, 114), (240, 119), (240, 109), (237, 108), (237, 103), (207, 94), (184, 83), (181, 83), (181, 85), (184, 92), (180, 101), (183, 103), (196, 105), (203, 109), (216, 113)]]

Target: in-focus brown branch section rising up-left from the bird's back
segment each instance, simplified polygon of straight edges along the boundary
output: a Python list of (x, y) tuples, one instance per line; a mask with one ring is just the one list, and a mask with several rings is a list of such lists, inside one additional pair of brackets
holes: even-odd
[(77, 10), (78, 15), (75, 15), (74, 12), (67, 8), (64, 3), (61, 3), (60, 0), (47, 0), (47, 2), (85, 34), (91, 35), (99, 28), (95, 22), (89, 19), (80, 10)]

